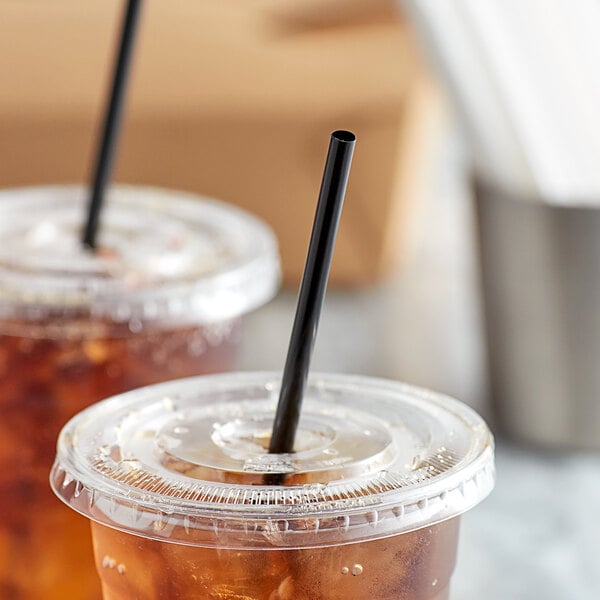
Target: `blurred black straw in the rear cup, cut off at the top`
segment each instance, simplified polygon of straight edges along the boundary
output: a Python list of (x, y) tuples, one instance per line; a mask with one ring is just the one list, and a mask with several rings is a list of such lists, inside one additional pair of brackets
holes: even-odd
[(114, 65), (112, 89), (104, 115), (103, 133), (96, 153), (93, 187), (82, 240), (85, 246), (92, 249), (96, 247), (96, 233), (98, 231), (98, 220), (104, 199), (104, 190), (112, 171), (139, 7), (140, 0), (128, 0), (123, 17), (119, 51)]

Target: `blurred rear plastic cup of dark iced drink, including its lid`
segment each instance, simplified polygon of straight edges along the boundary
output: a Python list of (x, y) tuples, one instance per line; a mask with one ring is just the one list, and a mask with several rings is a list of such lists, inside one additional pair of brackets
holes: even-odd
[(230, 370), (240, 318), (278, 283), (270, 230), (233, 207), (118, 187), (99, 248), (87, 192), (0, 193), (0, 598), (100, 597), (89, 527), (56, 502), (56, 437), (107, 396)]

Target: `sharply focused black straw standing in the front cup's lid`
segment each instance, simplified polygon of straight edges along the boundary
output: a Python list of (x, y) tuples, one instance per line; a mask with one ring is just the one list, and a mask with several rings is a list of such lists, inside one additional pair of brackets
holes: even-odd
[(331, 134), (269, 445), (272, 453), (294, 450), (304, 386), (325, 298), (355, 141), (355, 135), (349, 131)]

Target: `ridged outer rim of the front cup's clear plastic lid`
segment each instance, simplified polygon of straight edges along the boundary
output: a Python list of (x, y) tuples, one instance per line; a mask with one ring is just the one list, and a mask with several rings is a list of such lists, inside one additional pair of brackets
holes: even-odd
[[(431, 476), (418, 471), (404, 480), (397, 473), (381, 470), (325, 486), (283, 488), (206, 481), (200, 482), (204, 487), (185, 488), (184, 483), (190, 482), (181, 478), (170, 481), (159, 470), (154, 473), (154, 484), (159, 490), (155, 493), (145, 485), (141, 489), (137, 486), (139, 472), (123, 472), (122, 477), (115, 478), (113, 471), (108, 475), (112, 481), (107, 483), (108, 462), (98, 460), (97, 455), (90, 460), (89, 456), (78, 454), (73, 445), (73, 440), (81, 443), (91, 435), (102, 414), (137, 414), (151, 398), (155, 402), (175, 398), (176, 403), (187, 407), (189, 396), (194, 394), (211, 393), (225, 398), (235, 389), (246, 387), (255, 391), (261, 386), (265, 394), (272, 394), (279, 378), (279, 373), (193, 377), (134, 390), (90, 407), (69, 421), (61, 432), (50, 477), (52, 488), (71, 508), (102, 525), (161, 541), (231, 548), (305, 548), (388, 537), (456, 517), (491, 492), (495, 478), (494, 444), (481, 417), (447, 396), (363, 376), (315, 373), (309, 379), (307, 394), (316, 394), (324, 401), (332, 393), (340, 397), (353, 394), (353, 398), (369, 393), (370, 406), (385, 399), (389, 403), (397, 401), (399, 409), (405, 404), (406, 414), (424, 411), (429, 418), (431, 414), (443, 413), (456, 428), (455, 435), (462, 429), (471, 438), (458, 467), (450, 466)], [(197, 482), (190, 485), (193, 483)], [(315, 501), (306, 501), (314, 494)], [(231, 500), (234, 497), (236, 500)], [(240, 498), (243, 500), (238, 501)], [(248, 501), (256, 498), (261, 500)]]

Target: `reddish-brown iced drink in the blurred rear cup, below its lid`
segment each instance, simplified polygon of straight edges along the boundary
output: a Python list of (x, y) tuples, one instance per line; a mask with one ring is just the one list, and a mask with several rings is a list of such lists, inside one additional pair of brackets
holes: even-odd
[[(0, 598), (97, 599), (83, 551), (89, 525), (48, 486), (61, 427), (118, 392), (231, 369), (239, 323), (135, 334), (108, 322), (4, 325), (12, 335), (0, 323)], [(50, 337), (57, 329), (64, 337)]]

